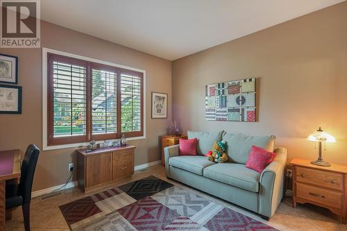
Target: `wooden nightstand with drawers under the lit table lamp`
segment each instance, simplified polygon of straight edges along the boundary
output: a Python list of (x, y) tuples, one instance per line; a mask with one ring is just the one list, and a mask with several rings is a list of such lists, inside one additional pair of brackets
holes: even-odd
[(290, 162), (293, 172), (293, 206), (311, 203), (330, 209), (342, 217), (347, 215), (347, 166), (331, 164), (317, 166), (310, 160), (294, 158)]

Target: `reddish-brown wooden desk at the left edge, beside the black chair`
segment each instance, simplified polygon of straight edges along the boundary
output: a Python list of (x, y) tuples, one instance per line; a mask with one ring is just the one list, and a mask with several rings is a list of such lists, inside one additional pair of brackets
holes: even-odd
[(6, 180), (21, 176), (19, 150), (0, 151), (0, 230), (5, 230), (6, 219)]

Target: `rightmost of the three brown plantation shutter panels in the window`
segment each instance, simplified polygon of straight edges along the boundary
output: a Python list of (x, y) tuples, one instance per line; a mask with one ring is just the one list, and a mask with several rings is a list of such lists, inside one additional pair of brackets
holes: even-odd
[(121, 132), (128, 136), (143, 135), (142, 79), (135, 71), (121, 73)]

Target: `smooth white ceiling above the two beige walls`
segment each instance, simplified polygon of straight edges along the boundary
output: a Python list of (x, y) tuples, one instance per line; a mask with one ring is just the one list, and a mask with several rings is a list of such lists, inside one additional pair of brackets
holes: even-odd
[(344, 0), (42, 0), (41, 18), (176, 60)]

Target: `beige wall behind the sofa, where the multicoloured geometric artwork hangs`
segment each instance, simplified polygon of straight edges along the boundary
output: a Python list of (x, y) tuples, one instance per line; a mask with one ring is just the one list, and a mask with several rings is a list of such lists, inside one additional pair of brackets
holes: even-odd
[[(172, 116), (184, 130), (274, 134), (290, 160), (316, 158), (305, 137), (322, 126), (338, 141), (324, 159), (347, 164), (347, 2), (176, 60), (172, 71)], [(251, 77), (260, 78), (257, 122), (205, 120), (205, 85)]]

